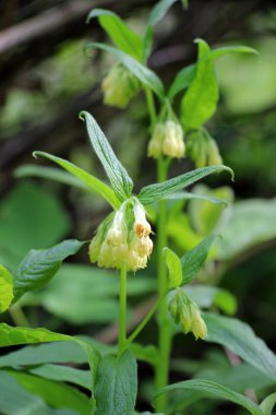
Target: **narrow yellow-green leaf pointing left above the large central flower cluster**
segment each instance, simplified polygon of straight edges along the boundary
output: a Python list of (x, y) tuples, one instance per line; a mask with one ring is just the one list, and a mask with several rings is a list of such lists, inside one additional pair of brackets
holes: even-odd
[(51, 154), (44, 153), (44, 152), (34, 152), (34, 156), (41, 156), (50, 159), (51, 162), (55, 162), (59, 164), (62, 168), (77, 177), (80, 180), (82, 180), (91, 190), (96, 191), (99, 193), (104, 199), (108, 201), (108, 203), (111, 204), (112, 208), (118, 208), (120, 202), (118, 201), (115, 192), (112, 189), (110, 189), (107, 185), (105, 185), (103, 181), (97, 179), (96, 177), (89, 175), (82, 168), (75, 166), (74, 164), (68, 162), (67, 159), (56, 157)]

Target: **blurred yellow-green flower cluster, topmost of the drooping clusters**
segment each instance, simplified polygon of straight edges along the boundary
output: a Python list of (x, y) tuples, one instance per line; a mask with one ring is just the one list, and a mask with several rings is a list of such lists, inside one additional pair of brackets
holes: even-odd
[(140, 90), (140, 81), (121, 63), (113, 66), (103, 80), (104, 103), (125, 108)]

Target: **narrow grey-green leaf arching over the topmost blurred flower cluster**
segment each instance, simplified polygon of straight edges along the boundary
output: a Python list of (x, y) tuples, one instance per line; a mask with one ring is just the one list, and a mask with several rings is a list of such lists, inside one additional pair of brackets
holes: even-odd
[(86, 49), (98, 48), (111, 54), (118, 59), (125, 68), (128, 68), (141, 82), (153, 90), (160, 99), (164, 98), (164, 85), (160, 79), (151, 69), (144, 67), (142, 63), (131, 58), (129, 55), (121, 50), (112, 48), (111, 46), (98, 43), (92, 43), (86, 46)]

